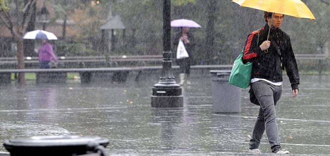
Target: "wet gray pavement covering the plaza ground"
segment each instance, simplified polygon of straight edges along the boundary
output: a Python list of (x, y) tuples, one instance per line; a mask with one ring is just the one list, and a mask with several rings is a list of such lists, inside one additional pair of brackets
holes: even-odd
[[(111, 156), (251, 155), (248, 140), (258, 107), (249, 103), (248, 89), (242, 90), (241, 113), (214, 113), (209, 74), (191, 77), (192, 85), (183, 86), (184, 107), (173, 109), (150, 107), (157, 75), (126, 83), (1, 86), (0, 142), (71, 134), (110, 139)], [(303, 75), (301, 82), (292, 98), (284, 80), (277, 105), (282, 146), (297, 156), (329, 155), (330, 76)], [(260, 150), (272, 155), (265, 134)], [(6, 152), (3, 146), (0, 151)]]

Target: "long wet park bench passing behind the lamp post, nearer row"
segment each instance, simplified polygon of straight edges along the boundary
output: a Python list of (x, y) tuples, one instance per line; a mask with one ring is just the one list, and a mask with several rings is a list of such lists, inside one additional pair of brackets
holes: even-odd
[[(229, 70), (232, 65), (197, 65), (191, 70), (206, 72), (210, 70)], [(11, 83), (11, 74), (36, 73), (36, 83), (65, 83), (67, 73), (79, 73), (81, 83), (91, 83), (97, 80), (125, 82), (130, 72), (135, 72), (135, 80), (142, 75), (161, 73), (163, 66), (141, 67), (112, 67), (112, 68), (53, 68), (53, 69), (2, 69), (0, 70), (0, 83)], [(178, 71), (179, 66), (172, 66)]]

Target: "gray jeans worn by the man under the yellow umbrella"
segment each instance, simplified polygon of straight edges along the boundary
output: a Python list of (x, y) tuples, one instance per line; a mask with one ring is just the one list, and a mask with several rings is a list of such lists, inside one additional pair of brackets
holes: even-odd
[(259, 149), (264, 131), (273, 153), (281, 149), (279, 129), (276, 122), (275, 106), (281, 98), (282, 85), (276, 86), (263, 80), (251, 84), (253, 92), (260, 103), (259, 115), (255, 120), (249, 141), (249, 149)]

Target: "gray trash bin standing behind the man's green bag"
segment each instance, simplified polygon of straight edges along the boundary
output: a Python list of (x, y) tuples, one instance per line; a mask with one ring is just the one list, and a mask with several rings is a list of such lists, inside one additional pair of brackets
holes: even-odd
[(241, 88), (229, 84), (230, 70), (210, 71), (213, 111), (216, 113), (241, 112)]

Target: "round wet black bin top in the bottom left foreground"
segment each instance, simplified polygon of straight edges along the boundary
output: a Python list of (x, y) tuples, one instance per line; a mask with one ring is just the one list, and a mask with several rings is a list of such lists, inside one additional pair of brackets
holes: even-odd
[(3, 146), (10, 156), (108, 156), (109, 139), (101, 137), (32, 136), (10, 139)]

